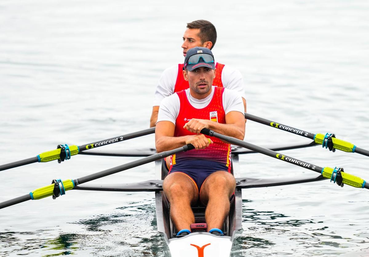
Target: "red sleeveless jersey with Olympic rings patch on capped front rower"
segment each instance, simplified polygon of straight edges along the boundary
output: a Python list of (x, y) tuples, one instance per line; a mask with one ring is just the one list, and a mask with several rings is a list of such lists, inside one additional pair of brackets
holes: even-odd
[[(174, 136), (180, 137), (184, 135), (196, 135), (187, 129), (183, 128), (184, 124), (191, 119), (211, 120), (218, 123), (225, 124), (225, 112), (223, 108), (223, 91), (224, 88), (214, 87), (214, 95), (210, 103), (202, 109), (194, 108), (187, 99), (186, 92), (177, 92), (180, 101), (179, 114), (176, 119)], [(216, 137), (209, 137), (214, 143), (209, 147), (200, 150), (191, 150), (187, 152), (180, 152), (172, 156), (172, 165), (189, 159), (206, 159), (209, 161), (221, 162), (227, 165), (228, 171), (231, 170), (231, 145), (222, 142)]]

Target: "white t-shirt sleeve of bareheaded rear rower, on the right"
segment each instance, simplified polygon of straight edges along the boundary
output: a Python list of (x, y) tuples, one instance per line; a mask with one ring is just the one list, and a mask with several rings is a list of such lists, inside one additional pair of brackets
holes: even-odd
[(245, 98), (244, 80), (239, 70), (224, 65), (222, 70), (222, 83), (223, 87), (234, 90), (238, 92), (241, 97)]

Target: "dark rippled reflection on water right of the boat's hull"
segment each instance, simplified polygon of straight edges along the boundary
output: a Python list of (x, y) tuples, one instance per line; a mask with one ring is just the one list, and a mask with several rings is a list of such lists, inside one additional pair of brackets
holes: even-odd
[[(238, 246), (232, 256), (369, 256), (368, 240), (317, 233), (329, 230), (324, 221), (289, 219), (281, 213), (247, 208), (251, 202), (243, 201), (244, 230), (235, 239)], [(353, 236), (368, 239), (369, 234)]]

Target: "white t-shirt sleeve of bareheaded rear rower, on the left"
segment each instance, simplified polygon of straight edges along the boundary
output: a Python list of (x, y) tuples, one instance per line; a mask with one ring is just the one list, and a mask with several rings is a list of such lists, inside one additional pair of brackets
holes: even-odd
[(153, 106), (159, 106), (160, 102), (174, 93), (178, 74), (178, 64), (165, 69), (155, 89)]

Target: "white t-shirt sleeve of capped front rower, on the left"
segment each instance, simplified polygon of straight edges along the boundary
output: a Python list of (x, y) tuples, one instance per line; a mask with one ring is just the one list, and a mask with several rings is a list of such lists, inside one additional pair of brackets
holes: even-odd
[(160, 103), (158, 120), (156, 123), (163, 120), (176, 124), (176, 119), (179, 114), (180, 102), (177, 94), (172, 94), (163, 99)]

